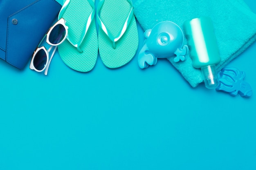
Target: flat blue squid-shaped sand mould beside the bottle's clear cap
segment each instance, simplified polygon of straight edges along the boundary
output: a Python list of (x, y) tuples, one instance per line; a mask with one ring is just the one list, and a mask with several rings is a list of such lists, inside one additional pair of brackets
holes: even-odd
[(219, 73), (220, 85), (216, 91), (224, 91), (232, 96), (240, 94), (242, 97), (252, 96), (251, 86), (245, 82), (245, 72), (239, 71), (235, 67), (222, 68)]

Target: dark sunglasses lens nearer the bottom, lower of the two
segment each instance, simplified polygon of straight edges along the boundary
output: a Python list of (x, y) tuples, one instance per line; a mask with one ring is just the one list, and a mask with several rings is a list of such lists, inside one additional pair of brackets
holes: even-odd
[(45, 68), (47, 62), (47, 55), (43, 49), (40, 49), (34, 57), (34, 67), (41, 71)]

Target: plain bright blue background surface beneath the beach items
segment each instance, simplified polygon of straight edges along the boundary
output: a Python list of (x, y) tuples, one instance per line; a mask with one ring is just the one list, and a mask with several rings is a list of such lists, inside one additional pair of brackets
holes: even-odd
[[(254, 91), (255, 56), (228, 64)], [(0, 77), (0, 170), (256, 170), (256, 95), (192, 88), (166, 59), (79, 73), (56, 54), (47, 76), (0, 60)]]

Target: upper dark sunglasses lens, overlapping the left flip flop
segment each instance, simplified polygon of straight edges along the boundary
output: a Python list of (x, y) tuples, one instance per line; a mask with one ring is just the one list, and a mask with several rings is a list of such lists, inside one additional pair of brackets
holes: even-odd
[(52, 44), (58, 44), (63, 40), (65, 35), (65, 27), (62, 24), (58, 24), (52, 29), (49, 35), (49, 42), (51, 42)]

